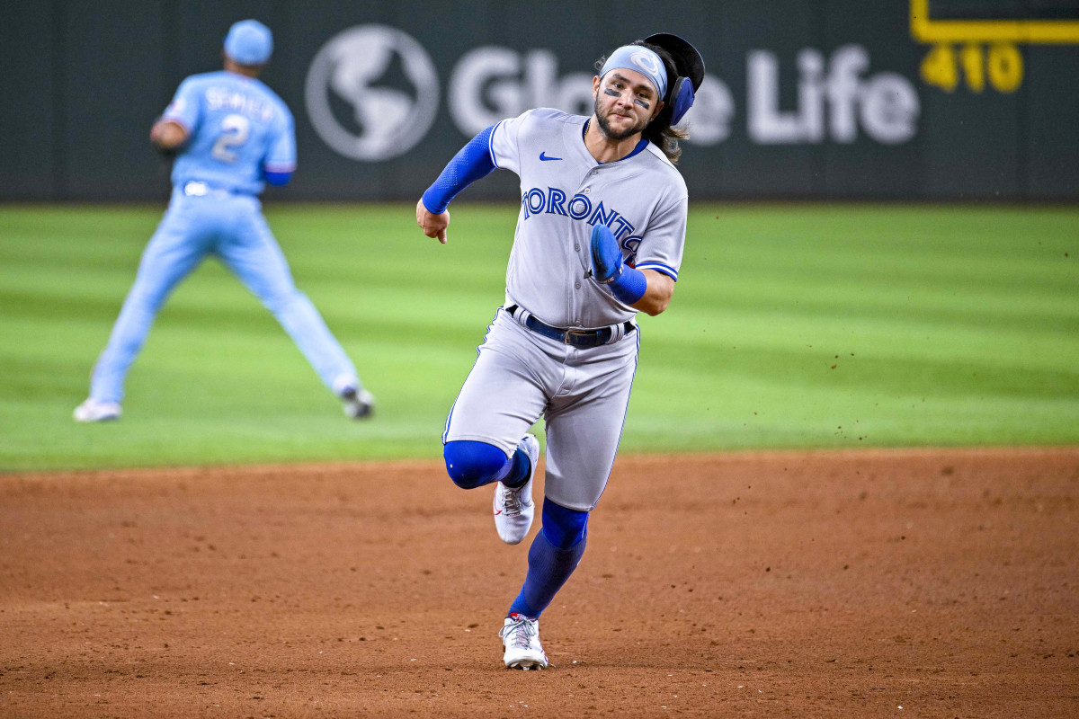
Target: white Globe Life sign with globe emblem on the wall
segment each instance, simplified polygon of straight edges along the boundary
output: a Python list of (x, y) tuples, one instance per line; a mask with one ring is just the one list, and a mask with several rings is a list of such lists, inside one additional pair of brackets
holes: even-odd
[[(752, 144), (848, 144), (864, 136), (901, 144), (918, 130), (914, 84), (896, 72), (873, 72), (868, 49), (848, 44), (830, 56), (806, 47), (797, 67), (782, 71), (768, 50), (747, 54), (746, 139)], [(589, 114), (592, 72), (560, 74), (554, 51), (473, 47), (449, 73), (450, 117), (465, 137), (534, 107)], [(793, 85), (793, 109), (781, 107), (783, 83)], [(438, 114), (438, 73), (411, 36), (384, 25), (360, 25), (333, 36), (308, 71), (305, 99), (312, 125), (338, 154), (385, 162), (414, 148)], [(706, 74), (688, 125), (692, 144), (715, 146), (735, 132), (738, 108), (727, 84)]]

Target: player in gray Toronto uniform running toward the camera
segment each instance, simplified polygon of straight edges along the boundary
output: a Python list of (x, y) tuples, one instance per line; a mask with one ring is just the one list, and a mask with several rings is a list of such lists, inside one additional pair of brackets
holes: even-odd
[(704, 79), (697, 51), (672, 34), (597, 63), (590, 117), (530, 110), (477, 135), (416, 204), (428, 237), (447, 240), (447, 206), (495, 168), (520, 177), (505, 305), (450, 411), (446, 469), (466, 489), (495, 484), (494, 524), (524, 539), (535, 504), (544, 415), (543, 528), (500, 636), (510, 668), (545, 668), (540, 616), (585, 551), (588, 514), (618, 448), (640, 346), (638, 312), (674, 292), (685, 241), (685, 182), (673, 129)]

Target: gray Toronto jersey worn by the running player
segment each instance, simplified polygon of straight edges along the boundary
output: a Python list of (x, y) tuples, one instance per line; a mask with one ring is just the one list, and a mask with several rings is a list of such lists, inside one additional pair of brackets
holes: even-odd
[(491, 136), (497, 167), (521, 180), (521, 211), (506, 272), (506, 302), (556, 327), (603, 327), (637, 310), (588, 279), (592, 225), (605, 224), (638, 269), (678, 279), (685, 243), (685, 181), (651, 142), (598, 164), (585, 147), (587, 117), (538, 109)]

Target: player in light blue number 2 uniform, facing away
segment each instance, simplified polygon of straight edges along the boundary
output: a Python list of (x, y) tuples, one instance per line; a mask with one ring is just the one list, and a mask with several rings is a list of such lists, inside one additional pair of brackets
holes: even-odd
[(288, 107), (258, 80), (273, 36), (258, 20), (236, 23), (224, 39), (224, 69), (187, 78), (150, 130), (176, 153), (173, 196), (150, 239), (135, 284), (94, 367), (78, 421), (118, 419), (124, 378), (173, 288), (207, 254), (218, 255), (273, 313), (351, 417), (371, 414), (374, 398), (318, 310), (292, 282), (258, 199), (265, 182), (283, 185), (296, 168)]

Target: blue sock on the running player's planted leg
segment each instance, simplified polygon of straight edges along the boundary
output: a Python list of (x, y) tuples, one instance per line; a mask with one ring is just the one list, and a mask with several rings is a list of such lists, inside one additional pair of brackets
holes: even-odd
[(585, 553), (587, 522), (588, 512), (544, 501), (544, 526), (532, 540), (529, 572), (521, 593), (509, 607), (510, 614), (537, 618), (550, 605)]

